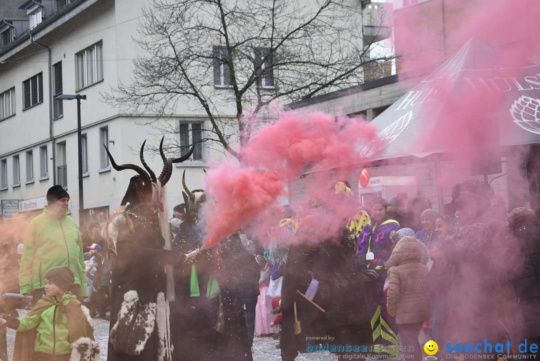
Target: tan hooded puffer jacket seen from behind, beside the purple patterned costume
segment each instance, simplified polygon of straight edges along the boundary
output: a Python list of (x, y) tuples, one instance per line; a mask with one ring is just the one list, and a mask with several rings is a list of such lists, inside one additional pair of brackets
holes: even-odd
[(428, 276), (426, 246), (414, 237), (403, 237), (384, 263), (390, 270), (387, 310), (397, 324), (428, 321), (429, 304), (424, 292)]

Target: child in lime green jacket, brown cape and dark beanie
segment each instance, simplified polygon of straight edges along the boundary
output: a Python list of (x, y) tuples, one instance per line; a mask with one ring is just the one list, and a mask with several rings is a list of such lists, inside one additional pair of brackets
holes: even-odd
[(14, 360), (98, 360), (99, 345), (94, 340), (89, 312), (76, 296), (66, 292), (75, 280), (73, 271), (66, 266), (53, 267), (43, 280), (45, 295), (28, 316), (0, 319), (17, 331)]

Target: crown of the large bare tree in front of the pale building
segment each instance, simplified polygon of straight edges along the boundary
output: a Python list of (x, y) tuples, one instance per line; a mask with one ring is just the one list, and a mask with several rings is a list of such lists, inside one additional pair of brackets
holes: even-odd
[[(270, 119), (274, 100), (310, 98), (362, 83), (365, 73), (373, 78), (388, 71), (389, 56), (369, 56), (362, 3), (154, 0), (134, 39), (142, 52), (132, 82), (103, 97), (163, 116), (184, 103), (208, 120), (208, 136), (200, 141), (217, 142), (241, 160), (232, 145), (247, 144), (261, 120)], [(159, 119), (143, 122), (156, 133), (178, 132)]]

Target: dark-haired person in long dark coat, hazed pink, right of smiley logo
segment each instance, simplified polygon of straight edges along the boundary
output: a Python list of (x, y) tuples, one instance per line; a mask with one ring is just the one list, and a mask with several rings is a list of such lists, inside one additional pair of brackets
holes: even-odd
[(462, 343), (474, 344), (484, 338), (497, 342), (497, 310), (493, 302), (500, 280), (492, 262), (494, 241), (490, 230), (496, 228), (483, 217), (486, 202), (476, 193), (458, 197), (455, 204), (460, 221), (441, 249), (446, 274), (451, 275), (450, 306)]

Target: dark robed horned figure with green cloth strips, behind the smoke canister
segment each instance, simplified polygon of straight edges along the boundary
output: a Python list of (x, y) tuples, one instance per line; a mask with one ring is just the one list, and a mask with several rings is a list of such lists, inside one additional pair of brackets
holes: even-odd
[[(173, 248), (187, 254), (204, 244), (205, 222), (199, 219), (199, 214), (206, 195), (203, 189), (187, 188), (185, 172), (182, 183), (186, 219), (174, 238)], [(243, 309), (236, 301), (234, 290), (227, 285), (230, 274), (222, 265), (221, 247), (202, 250), (194, 259), (197, 262), (174, 266), (176, 301), (171, 304), (174, 355), (195, 361), (251, 360)]]

